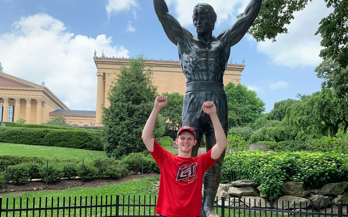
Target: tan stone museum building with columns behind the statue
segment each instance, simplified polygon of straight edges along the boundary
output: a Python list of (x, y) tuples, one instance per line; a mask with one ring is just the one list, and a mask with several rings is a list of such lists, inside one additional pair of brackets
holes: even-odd
[[(0, 71), (0, 121), (16, 122), (23, 118), (27, 124), (41, 124), (62, 115), (71, 125), (102, 126), (102, 106), (110, 105), (107, 98), (110, 85), (119, 74), (120, 67), (129, 66), (130, 59), (105, 56), (94, 56), (93, 59), (97, 68), (96, 111), (70, 110), (44, 84), (35, 84)], [(186, 80), (179, 61), (147, 59), (146, 67), (151, 67), (153, 84), (157, 86), (158, 93), (185, 93)], [(228, 64), (224, 85), (229, 82), (240, 84), (244, 67), (244, 64)]]

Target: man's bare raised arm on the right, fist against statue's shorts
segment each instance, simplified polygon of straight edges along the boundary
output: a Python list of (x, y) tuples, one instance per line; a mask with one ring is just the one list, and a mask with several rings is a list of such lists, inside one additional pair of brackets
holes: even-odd
[(211, 158), (217, 159), (221, 156), (223, 150), (227, 146), (227, 138), (221, 126), (220, 120), (217, 117), (216, 106), (214, 102), (213, 101), (204, 102), (202, 109), (205, 113), (207, 113), (210, 116), (213, 122), (216, 144), (212, 148)]

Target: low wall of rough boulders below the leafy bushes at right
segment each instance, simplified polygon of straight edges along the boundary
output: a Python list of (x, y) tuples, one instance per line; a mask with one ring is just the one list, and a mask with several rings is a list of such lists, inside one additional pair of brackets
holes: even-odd
[[(260, 192), (260, 186), (251, 180), (220, 184), (216, 194), (217, 204), (221, 205), (221, 197), (224, 196), (225, 206), (229, 206), (229, 204), (230, 206), (251, 208), (271, 208), (272, 206), (276, 209), (295, 209), (296, 211), (306, 210), (306, 208), (311, 211), (313, 208), (315, 212), (319, 210), (325, 212), (326, 204), (326, 208), (332, 207), (333, 213), (337, 213), (337, 204), (341, 202), (343, 214), (347, 214), (348, 182), (329, 183), (321, 189), (314, 190), (305, 189), (303, 182), (284, 182), (283, 187), (285, 195), (267, 197)], [(331, 213), (331, 208), (326, 212)]]

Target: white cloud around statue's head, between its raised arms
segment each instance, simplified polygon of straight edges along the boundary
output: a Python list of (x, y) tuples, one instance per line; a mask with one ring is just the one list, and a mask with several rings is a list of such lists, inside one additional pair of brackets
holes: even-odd
[[(167, 0), (169, 12), (174, 15), (182, 26), (192, 26), (192, 11), (197, 5), (197, 0)], [(228, 22), (231, 25), (237, 20), (237, 16), (242, 13), (248, 5), (249, 0), (205, 0), (211, 5), (216, 14), (216, 25)]]

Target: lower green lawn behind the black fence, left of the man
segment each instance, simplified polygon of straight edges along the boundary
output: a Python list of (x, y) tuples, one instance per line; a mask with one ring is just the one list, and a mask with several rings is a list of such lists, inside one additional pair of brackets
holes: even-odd
[[(6, 200), (8, 198), (8, 207), (9, 208), (19, 208), (19, 202), (20, 198), (22, 198), (22, 207), (26, 206), (26, 198), (29, 198), (29, 208), (33, 207), (33, 198), (35, 198), (35, 207), (44, 207), (46, 203), (46, 197), (47, 197), (47, 204), (48, 207), (51, 207), (52, 204), (52, 197), (53, 197), (53, 207), (57, 207), (57, 200), (59, 197), (59, 206), (68, 206), (69, 205), (69, 197), (71, 200), (71, 206), (75, 204), (75, 196), (76, 196), (76, 205), (80, 205), (80, 201), (82, 205), (85, 205), (86, 203), (86, 196), (87, 196), (87, 204), (91, 204), (91, 196), (92, 196), (92, 205), (95, 205), (96, 200), (97, 204), (101, 204), (101, 195), (103, 197), (103, 204), (105, 204), (105, 199), (106, 195), (108, 195), (108, 204), (110, 204), (110, 195), (112, 195), (112, 203), (116, 203), (116, 194), (120, 194), (120, 203), (125, 203), (125, 204), (132, 204), (133, 199), (135, 198), (135, 203), (139, 204), (139, 199), (140, 203), (144, 204), (144, 195), (146, 195), (145, 198), (145, 203), (149, 204), (150, 198), (149, 196), (151, 195), (151, 204), (155, 203), (155, 195), (157, 197), (158, 195), (158, 184), (159, 184), (159, 178), (143, 178), (140, 180), (133, 180), (130, 182), (126, 183), (120, 183), (120, 184), (115, 184), (115, 185), (108, 185), (108, 186), (102, 186), (102, 187), (96, 187), (96, 188), (70, 188), (66, 190), (60, 190), (60, 191), (39, 191), (39, 192), (27, 192), (23, 194), (4, 194), (0, 195), (2, 197), (2, 209), (6, 208)], [(123, 201), (123, 195), (130, 195), (129, 201), (128, 197), (125, 197), (125, 200)], [(96, 197), (97, 196), (97, 197)], [(140, 196), (140, 197), (139, 197)], [(41, 205), (39, 203), (41, 197)], [(65, 197), (65, 199), (64, 199)], [(81, 200), (80, 200), (81, 197)], [(13, 200), (15, 198), (15, 206), (13, 206)], [(112, 208), (112, 211), (114, 212), (115, 208)], [(69, 216), (69, 212), (71, 212), (70, 216), (73, 216), (76, 211), (76, 215), (79, 216), (79, 209), (65, 209), (64, 214), (66, 216)], [(86, 212), (89, 215), (90, 212), (92, 212), (92, 216), (95, 216), (95, 212), (97, 212), (98, 216), (100, 216), (100, 213), (103, 212), (102, 216), (105, 216), (105, 208), (102, 210), (100, 208), (87, 208)], [(120, 208), (120, 214), (123, 212), (128, 212), (128, 207), (122, 209)], [(155, 211), (154, 207), (151, 208), (151, 214), (153, 214)], [(108, 214), (110, 212), (110, 207), (108, 207), (107, 210)], [(136, 214), (143, 215), (144, 214), (144, 207), (135, 207), (134, 212)], [(145, 214), (149, 215), (149, 207), (146, 208)], [(29, 212), (30, 216), (32, 216), (32, 211)], [(84, 216), (85, 214), (85, 209), (81, 210), (81, 216)], [(130, 208), (129, 214), (133, 214), (133, 207)], [(5, 215), (5, 213), (3, 213)], [(9, 213), (9, 215), (12, 215), (12, 212)], [(22, 216), (25, 216), (26, 212), (22, 212)], [(53, 215), (57, 216), (57, 210), (53, 210)], [(60, 210), (59, 215), (63, 215), (63, 210)], [(19, 212), (15, 212), (15, 216), (19, 216)], [(39, 216), (39, 212), (35, 211), (34, 216)], [(41, 211), (41, 216), (45, 216), (45, 211)], [(51, 216), (51, 211), (47, 211), (47, 216)]]

